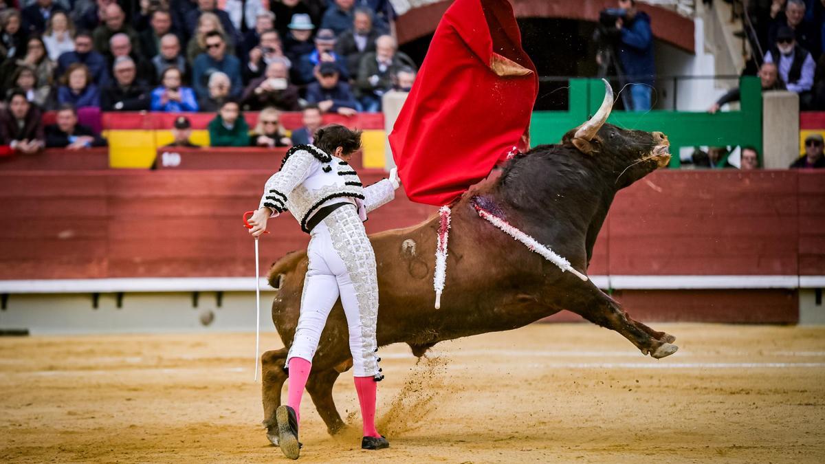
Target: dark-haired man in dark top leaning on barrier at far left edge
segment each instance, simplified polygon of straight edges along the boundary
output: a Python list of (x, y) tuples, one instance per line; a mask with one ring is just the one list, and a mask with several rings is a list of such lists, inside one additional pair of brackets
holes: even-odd
[(0, 111), (0, 145), (23, 153), (37, 153), (45, 145), (40, 109), (26, 99), (26, 93), (14, 90)]

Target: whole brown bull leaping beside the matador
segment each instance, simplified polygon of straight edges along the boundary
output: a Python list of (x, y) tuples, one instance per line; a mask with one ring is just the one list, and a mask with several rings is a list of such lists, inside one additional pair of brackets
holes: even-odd
[[(421, 357), (444, 340), (516, 329), (569, 310), (622, 334), (643, 354), (661, 358), (676, 352), (672, 335), (631, 319), (593, 282), (562, 272), (475, 210), (479, 205), (493, 211), (586, 272), (616, 192), (670, 160), (669, 142), (661, 132), (606, 124), (612, 105), (607, 85), (596, 115), (568, 131), (561, 144), (517, 155), (499, 178), (455, 201), (441, 309), (433, 307), (432, 287), (438, 216), (370, 235), (380, 289), (379, 346), (407, 343), (413, 355)], [(275, 411), (287, 379), (284, 362), (298, 324), (307, 264), (305, 252), (290, 253), (272, 266), (268, 277), (279, 288), (272, 321), (285, 344), (262, 355), (263, 424), (272, 443), (277, 440)], [(323, 329), (306, 384), (329, 433), (345, 425), (332, 400), (332, 384), (350, 366), (347, 320), (339, 301)]]

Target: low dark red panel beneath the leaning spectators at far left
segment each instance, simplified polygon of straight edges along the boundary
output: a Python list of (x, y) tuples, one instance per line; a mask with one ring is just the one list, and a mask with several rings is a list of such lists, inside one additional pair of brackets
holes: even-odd
[(0, 157), (0, 171), (79, 171), (108, 168), (108, 148), (45, 149), (39, 154)]

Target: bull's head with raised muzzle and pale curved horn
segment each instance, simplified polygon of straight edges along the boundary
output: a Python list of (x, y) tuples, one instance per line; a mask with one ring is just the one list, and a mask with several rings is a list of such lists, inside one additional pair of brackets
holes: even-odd
[[(602, 79), (604, 80), (604, 79)], [(613, 168), (616, 182), (629, 185), (670, 162), (670, 142), (662, 132), (627, 130), (606, 124), (613, 107), (613, 89), (605, 83), (605, 99), (599, 111), (562, 138), (562, 144), (573, 145), (587, 156), (599, 157), (606, 168)]]

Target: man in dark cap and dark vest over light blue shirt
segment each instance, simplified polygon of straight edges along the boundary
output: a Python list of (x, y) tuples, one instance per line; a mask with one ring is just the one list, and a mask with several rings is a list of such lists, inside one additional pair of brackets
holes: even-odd
[(785, 88), (799, 93), (800, 109), (812, 106), (811, 88), (816, 64), (808, 50), (796, 43), (794, 31), (790, 27), (783, 26), (776, 32), (776, 43), (765, 54), (765, 62), (776, 63)]

